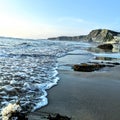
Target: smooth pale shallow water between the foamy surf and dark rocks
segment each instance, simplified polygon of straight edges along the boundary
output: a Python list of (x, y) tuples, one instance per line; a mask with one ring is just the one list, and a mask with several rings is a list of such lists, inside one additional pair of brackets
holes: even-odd
[(97, 46), (98, 44), (89, 43), (87, 47), (68, 52), (66, 56), (58, 59), (59, 69), (73, 70), (71, 68), (74, 64), (87, 62), (120, 63), (120, 45), (114, 45), (113, 50), (103, 50), (97, 48)]

